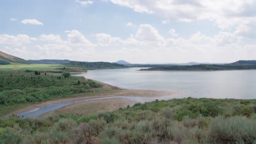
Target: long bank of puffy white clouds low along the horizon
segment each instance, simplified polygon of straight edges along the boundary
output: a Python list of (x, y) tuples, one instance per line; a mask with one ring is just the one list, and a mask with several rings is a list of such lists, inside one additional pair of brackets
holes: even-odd
[(96, 42), (92, 43), (78, 30), (66, 31), (65, 37), (2, 34), (0, 46), (3, 51), (25, 59), (65, 58), (75, 61), (232, 62), (255, 59), (256, 55), (256, 45), (243, 44), (245, 38), (235, 32), (219, 32), (211, 37), (196, 32), (185, 39), (164, 37), (152, 25), (142, 24), (125, 39), (106, 33), (94, 34), (92, 39)]

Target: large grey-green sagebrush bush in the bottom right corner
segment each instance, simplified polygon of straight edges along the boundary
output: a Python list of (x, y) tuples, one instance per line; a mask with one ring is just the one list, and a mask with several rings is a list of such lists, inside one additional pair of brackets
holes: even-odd
[(238, 116), (219, 116), (212, 119), (208, 136), (212, 142), (253, 143), (256, 141), (256, 122)]

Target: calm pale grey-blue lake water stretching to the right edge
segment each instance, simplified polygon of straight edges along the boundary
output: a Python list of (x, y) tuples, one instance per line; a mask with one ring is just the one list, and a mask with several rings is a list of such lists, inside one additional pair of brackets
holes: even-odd
[(182, 92), (179, 97), (256, 98), (256, 70), (138, 71), (141, 68), (89, 70), (72, 74), (128, 89)]

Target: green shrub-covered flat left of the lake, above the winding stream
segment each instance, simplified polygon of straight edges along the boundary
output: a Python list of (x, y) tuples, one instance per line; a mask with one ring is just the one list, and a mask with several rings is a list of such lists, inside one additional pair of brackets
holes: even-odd
[(54, 98), (69, 97), (77, 93), (90, 92), (91, 88), (102, 87), (100, 83), (73, 77), (40, 74), (38, 71), (0, 71), (1, 115), (10, 106), (30, 104)]

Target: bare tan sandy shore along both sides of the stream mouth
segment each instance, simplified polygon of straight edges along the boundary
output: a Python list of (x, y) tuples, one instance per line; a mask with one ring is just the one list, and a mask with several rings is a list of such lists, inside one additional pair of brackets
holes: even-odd
[[(10, 116), (10, 115), (18, 115), (21, 112), (37, 109), (38, 107), (43, 107), (43, 106), (46, 106), (46, 105), (62, 103), (62, 102), (65, 102), (65, 101), (91, 99), (91, 98), (103, 98), (103, 97), (114, 97), (114, 96), (131, 96), (131, 97), (149, 97), (149, 98), (153, 98), (153, 97), (165, 97), (165, 96), (170, 96), (170, 95), (177, 94), (175, 92), (154, 91), (154, 90), (121, 89), (121, 88), (114, 87), (114, 86), (108, 85), (107, 83), (103, 83), (103, 82), (100, 82), (100, 81), (96, 81), (96, 82), (102, 83), (104, 86), (102, 88), (97, 88), (95, 90), (104, 91), (106, 89), (114, 89), (115, 93), (108, 94), (108, 93), (97, 93), (96, 92), (95, 95), (91, 95), (91, 96), (83, 95), (83, 93), (81, 93), (81, 94), (79, 94), (79, 97), (60, 98), (60, 99), (45, 101), (43, 103), (33, 104), (31, 106), (16, 110), (14, 112), (10, 112), (10, 113), (8, 113), (8, 115), (5, 115), (4, 117)], [(92, 91), (94, 91), (94, 89), (92, 89)], [(104, 101), (107, 102), (109, 100), (108, 99), (106, 99), (106, 100), (96, 100), (96, 102), (95, 101), (88, 101), (88, 102), (84, 102), (84, 103), (72, 104), (72, 105), (68, 105), (66, 107), (62, 107), (61, 110), (63, 111), (65, 109), (71, 109), (72, 106), (83, 105), (85, 103), (88, 103), (88, 104), (89, 103), (98, 103), (97, 101), (103, 103)], [(131, 101), (131, 100), (120, 100), (119, 99), (118, 101), (122, 101), (122, 103), (118, 104), (117, 106), (112, 106), (108, 110), (116, 110), (117, 108), (121, 107), (121, 104), (123, 104), (123, 105), (134, 104), (134, 101)], [(115, 103), (116, 104), (118, 103), (117, 100), (115, 100)], [(100, 104), (100, 103), (98, 103), (98, 104)]]

